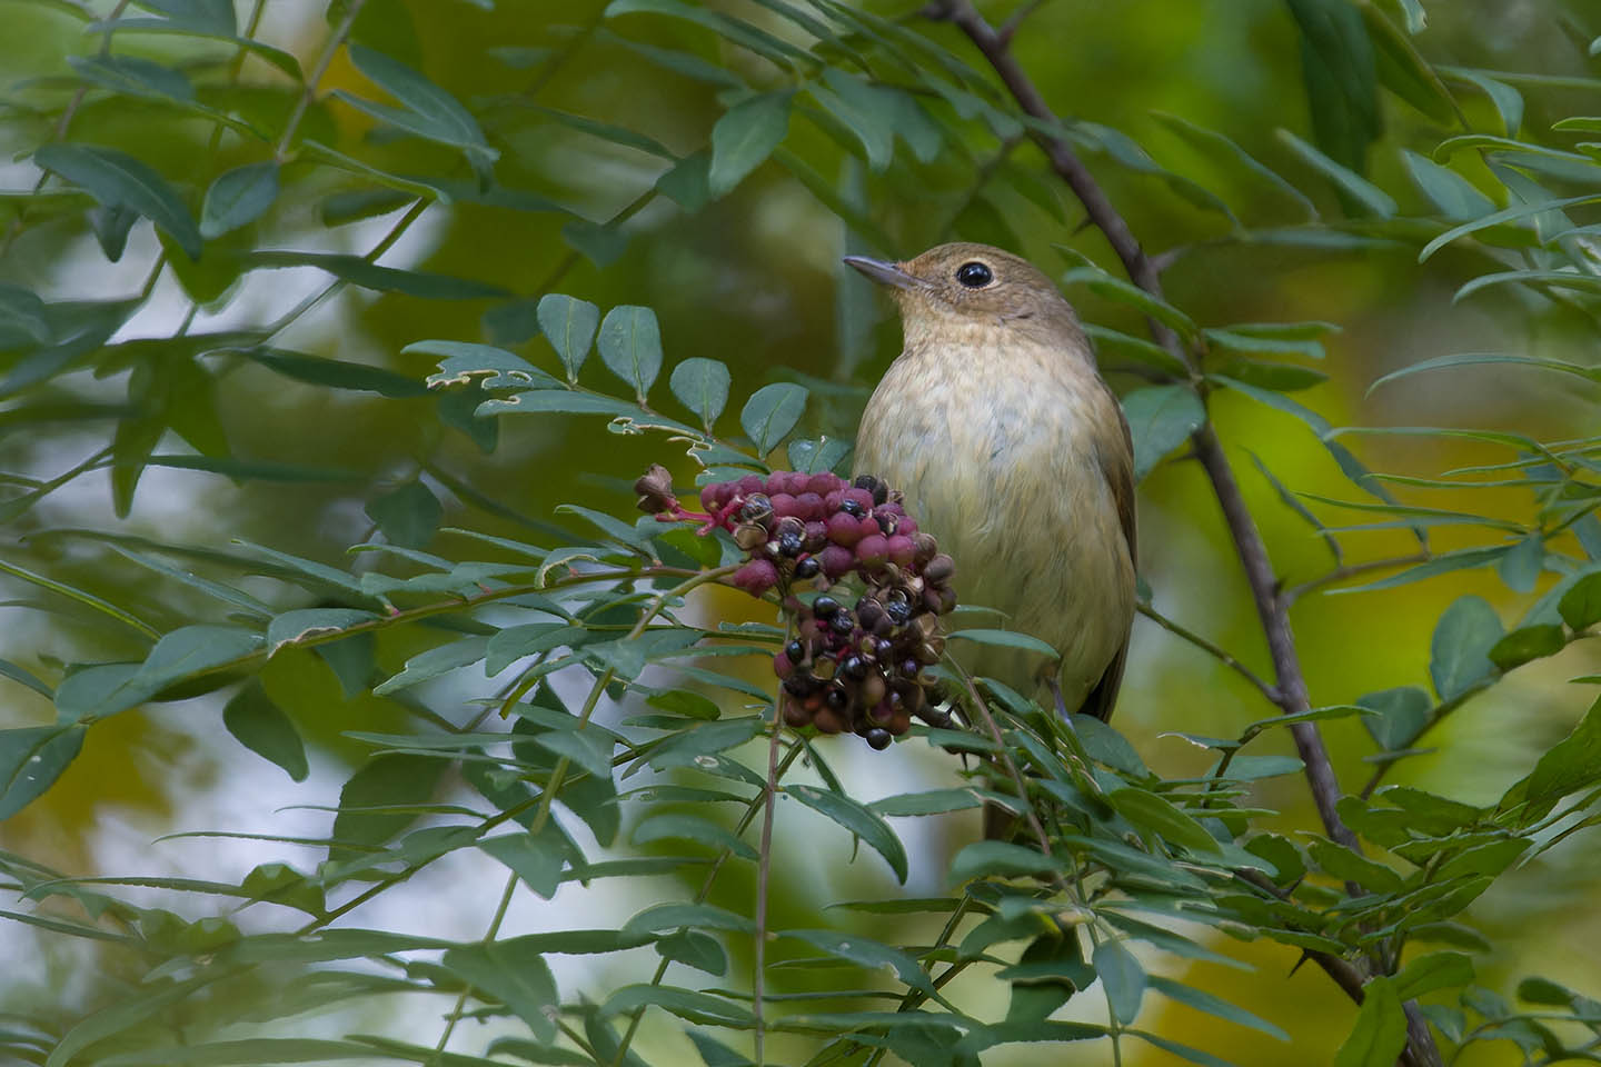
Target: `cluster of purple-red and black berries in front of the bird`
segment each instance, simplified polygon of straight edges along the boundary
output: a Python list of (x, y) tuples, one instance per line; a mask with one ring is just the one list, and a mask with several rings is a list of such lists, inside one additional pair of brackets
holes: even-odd
[[(727, 530), (749, 561), (733, 584), (778, 589), (796, 637), (773, 656), (791, 726), (855, 733), (885, 749), (917, 715), (948, 726), (929, 670), (945, 651), (938, 616), (956, 606), (954, 565), (917, 530), (900, 494), (871, 475), (778, 470), (701, 490), (704, 514), (684, 510), (663, 467), (636, 483), (639, 506), (663, 520)], [(817, 595), (804, 598), (804, 585)], [(850, 597), (841, 592), (857, 587)]]

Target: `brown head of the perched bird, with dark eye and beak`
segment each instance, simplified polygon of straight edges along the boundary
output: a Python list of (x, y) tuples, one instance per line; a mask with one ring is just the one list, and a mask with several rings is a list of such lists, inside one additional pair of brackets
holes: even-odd
[(1077, 315), (1034, 264), (989, 245), (938, 245), (916, 259), (845, 262), (890, 288), (900, 304), (906, 347), (925, 338), (988, 338), (996, 333), (1076, 346), (1089, 352)]

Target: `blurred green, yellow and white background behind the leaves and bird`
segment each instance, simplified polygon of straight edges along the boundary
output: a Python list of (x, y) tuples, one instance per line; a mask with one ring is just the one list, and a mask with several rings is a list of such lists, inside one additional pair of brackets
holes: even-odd
[[(8, 374), (0, 382), (0, 470), (11, 478), (6, 493), (14, 491), (11, 499), (18, 499), (38, 485), (53, 486), (26, 509), (6, 509), (0, 558), (128, 606), (162, 630), (208, 608), (83, 531), (218, 550), (231, 550), (234, 539), (243, 539), (339, 563), (347, 545), (378, 536), (367, 506), (397, 486), (421, 482), (442, 504), (447, 526), (532, 537), (528, 522), (559, 525), (552, 509), (562, 502), (628, 517), (629, 485), (653, 461), (668, 462), (682, 485), (692, 480), (693, 467), (672, 446), (608, 434), (599, 419), (549, 416), (504, 419), (498, 427), (474, 424), (434, 395), (331, 390), (229, 357), (192, 360), (197, 373), (157, 405), (147, 390), (139, 392), (136, 365), (144, 354), (128, 342), (283, 322), (272, 339), (280, 349), (386, 368), (413, 381), (426, 378), (435, 360), (402, 349), (429, 338), (501, 344), (554, 370), (556, 357), (533, 326), (533, 304), (543, 293), (560, 291), (602, 307), (653, 307), (668, 363), (692, 355), (725, 362), (736, 398), (772, 381), (807, 384), (813, 392), (805, 432), (849, 438), (873, 382), (898, 352), (900, 336), (881, 294), (841, 267), (847, 251), (898, 259), (945, 240), (978, 240), (1061, 274), (1074, 266), (1060, 248), (1066, 246), (1116, 272), (1105, 242), (1084, 226), (1081, 208), (1041, 152), (1017, 133), (996, 136), (975, 122), (953, 118), (949, 128), (961, 136), (930, 158), (897, 144), (893, 163), (874, 171), (858, 158), (849, 134), (797, 112), (780, 154), (732, 194), (708, 200), (692, 182), (687, 192), (661, 182), (663, 174), (680, 166), (679, 160), (706, 150), (711, 128), (725, 110), (719, 93), (740, 82), (776, 86), (788, 75), (692, 21), (650, 11), (605, 18), (605, 5), (596, 0), (493, 6), (368, 0), (355, 21), (352, 40), (426, 72), (477, 115), (500, 152), (498, 186), (517, 190), (516, 197), (472, 195), (471, 174), (451, 150), (394, 136), (370, 115), (331, 98), (339, 90), (376, 96), (339, 51), (301, 120), (299, 136), (389, 174), (455, 182), (458, 192), (466, 190), (463, 195), (431, 203), (418, 214), (408, 211), (411, 200), (405, 194), (391, 190), (384, 200), (383, 187), (373, 194), (360, 174), (320, 165), (303, 152), (285, 165), (283, 192), (272, 208), (208, 243), (199, 262), (170, 254), (170, 240), (149, 222), (133, 226), (126, 248), (112, 262), (93, 232), (88, 198), (69, 192), (58, 198), (26, 195), (40, 171), (22, 154), (56, 136), (61, 109), (85, 86), (70, 139), (138, 155), (191, 205), (199, 205), (215, 174), (263, 158), (261, 146), (248, 139), (215, 139), (213, 123), (191, 110), (138, 94), (107, 94), (101, 83), (85, 82), (82, 67), (69, 61), (99, 53), (102, 35), (90, 19), (114, 14), (114, 6), (115, 14), (123, 13), (123, 5), (99, 0), (86, 8), (70, 0), (0, 0), (0, 21), (8, 27), (0, 35), (0, 74), (8, 86), (0, 101), (6, 160), (0, 163), (0, 282), (30, 288), (46, 301), (120, 301), (147, 290), (136, 312), (104, 339), (109, 347), (90, 346), (59, 373), (27, 381), (21, 355), (0, 357), (0, 373)], [(688, 6), (733, 13), (780, 40), (810, 45), (794, 22), (757, 3)], [(861, 0), (858, 6), (901, 19), (981, 66), (951, 27), (917, 19), (914, 3)], [(994, 21), (1012, 10), (1009, 3), (980, 6)], [(1529, 136), (1539, 138), (1551, 117), (1593, 110), (1593, 101), (1601, 99), (1596, 61), (1585, 50), (1601, 27), (1593, 24), (1588, 5), (1455, 0), (1425, 6), (1428, 26), (1415, 43), (1431, 62), (1537, 75), (1516, 85)], [(149, 8), (171, 11), (168, 5)], [(242, 30), (255, 19), (256, 40), (312, 70), (330, 24), (346, 11), (343, 3), (325, 10), (311, 0), (240, 0), (237, 19)], [(1306, 205), (1247, 181), (1220, 152), (1198, 149), (1161, 115), (1225, 133), (1289, 176), (1326, 219), (1345, 218), (1348, 205), (1334, 187), (1276, 134), (1284, 128), (1313, 138), (1302, 35), (1290, 5), (1055, 0), (1028, 18), (1013, 48), (1058, 114), (1122, 131), (1158, 163), (1228, 203), (1246, 229), (1300, 226)], [(118, 32), (114, 54), (186, 70), (210, 107), (280, 123), (295, 106), (295, 90), (279, 67), (259, 54), (235, 64), (226, 40), (197, 43), (191, 37)], [(698, 58), (700, 66), (674, 58), (685, 54)], [(1475, 128), (1497, 126), (1500, 112), (1489, 94), (1468, 85), (1454, 90)], [(1388, 93), (1377, 99), (1377, 118), (1382, 131), (1375, 128), (1378, 136), (1364, 158), (1369, 176), (1401, 203), (1402, 216), (1430, 214), (1402, 152), (1426, 155), (1452, 130)], [(1511, 290), (1454, 302), (1457, 286), (1484, 270), (1483, 259), (1447, 248), (1418, 266), (1420, 240), (1399, 224), (1388, 234), (1367, 227), (1362, 240), (1346, 243), (1241, 240), (1241, 227), (1226, 214), (1175, 195), (1162, 176), (1142, 174), (1108, 154), (1087, 158), (1142, 243), (1153, 253), (1170, 253), (1167, 296), (1202, 326), (1295, 320), (1338, 326), (1324, 338), (1327, 358), (1316, 365), (1327, 381), (1295, 394), (1332, 424), (1463, 426), (1540, 440), (1596, 430), (1591, 384), (1519, 368), (1418, 374), (1369, 395), (1378, 376), (1452, 352), (1590, 360), (1595, 330), (1580, 312)], [(1486, 192), (1494, 189), (1481, 165), (1462, 163), (1470, 181)], [(24, 200), (32, 205), (24, 208)], [(232, 254), (267, 248), (367, 256), (381, 243), (387, 243), (381, 264), (471, 278), (503, 294), (427, 299), (338, 286), (317, 299), (328, 290), (325, 272), (245, 270)], [(1068, 296), (1087, 322), (1143, 336), (1143, 323), (1130, 307), (1082, 286), (1069, 288)], [(1145, 384), (1142, 365), (1105, 349), (1103, 362), (1119, 392)], [(584, 381), (615, 386), (597, 360), (584, 368)], [(1321, 537), (1279, 502), (1252, 462), (1252, 456), (1260, 458), (1292, 491), (1356, 499), (1326, 448), (1302, 421), (1246, 397), (1220, 394), (1212, 410), (1286, 582), (1327, 571), (1330, 557)], [(146, 453), (202, 453), (287, 467), (229, 478), (152, 464), (130, 490), (126, 514), (118, 515), (102, 453), (112, 434), (123, 440), (133, 434), (149, 437)], [(1503, 448), (1470, 440), (1345, 440), (1372, 469), (1404, 475), (1430, 477), (1511, 458)], [(1534, 506), (1526, 490), (1495, 493), (1486, 498), (1479, 491), (1470, 499), (1452, 491), (1402, 490), (1415, 504), (1499, 509), (1500, 517), (1531, 520)], [(1314, 509), (1330, 525), (1362, 520), (1354, 512)], [(1348, 534), (1348, 561), (1404, 555), (1414, 547), (1409, 537), (1394, 530)], [(1434, 544), (1439, 550), (1494, 544), (1494, 531), (1446, 528), (1436, 533)], [(443, 541), (431, 547), (450, 552)], [(1210, 486), (1182, 456), (1159, 466), (1142, 485), (1140, 557), (1142, 574), (1164, 614), (1231, 649), (1258, 673), (1271, 672)], [(184, 566), (208, 573), (203, 560)], [(250, 592), (274, 606), (303, 606), (290, 587), (251, 581)], [(1511, 627), (1555, 581), (1555, 574), (1542, 574), (1534, 590), (1518, 592), (1495, 573), (1457, 571), (1383, 593), (1330, 589), (1302, 598), (1294, 622), (1313, 704), (1345, 704), (1375, 689), (1426, 685), (1431, 630), (1447, 605), (1465, 593), (1481, 595)], [(700, 609), (706, 617), (762, 617), (748, 598), (728, 590), (708, 595)], [(133, 632), (107, 627), (102, 616), (67, 598), (0, 576), (0, 657), (42, 678), (59, 680), (67, 664), (136, 659), (142, 645), (133, 638)], [(376, 656), (397, 669), (418, 648), (415, 635), (384, 635)], [(295, 656), (311, 653), (280, 659)], [(1571, 729), (1588, 696), (1566, 681), (1595, 670), (1596, 654), (1587, 643), (1518, 670), (1431, 733), (1433, 750), (1401, 763), (1388, 781), (1470, 803), (1494, 801)], [(760, 670), (752, 669), (751, 677), (760, 680)], [(309, 849), (301, 854), (280, 843), (221, 837), (157, 841), (192, 830), (320, 837), (331, 816), (307, 805), (335, 805), (339, 784), (367, 752), (341, 734), (394, 731), (410, 721), (395, 701), (371, 694), (347, 699), (331, 672), (309, 670), (304, 662), (274, 661), (264, 681), (311, 745), (307, 782), (290, 781), (226, 734), (216, 713), (223, 697), (154, 704), (98, 725), (61, 781), (0, 824), (0, 848), (72, 873), (237, 880), (271, 859), (314, 865)], [(564, 685), (559, 680), (557, 688)], [(445, 678), (423, 694), (434, 707), (451, 707), (485, 689), (482, 678)], [(1146, 619), (1137, 622), (1114, 725), (1153, 769), (1201, 774), (1210, 763), (1206, 752), (1164, 731), (1233, 736), (1271, 710), (1215, 659)], [(602, 717), (615, 721), (621, 713), (608, 707)], [(48, 699), (0, 680), (0, 726), (51, 720)], [(1356, 720), (1329, 723), (1326, 736), (1342, 782), (1354, 790), (1370, 773), (1364, 757), (1372, 753), (1372, 741)], [(1263, 744), (1290, 752), (1287, 734)], [(863, 800), (932, 789), (954, 776), (949, 757), (924, 745), (897, 745), (876, 755), (847, 741), (826, 750)], [(1310, 801), (1298, 776), (1268, 779), (1258, 793), (1262, 806), (1284, 813), (1284, 827), (1310, 824)], [(897, 821), (914, 857), (911, 883), (901, 888), (874, 856), (852, 862), (842, 835), (813, 833), (818, 827), (812, 819), (810, 813), (784, 809), (778, 822), (780, 838), (796, 841), (784, 849), (781, 877), (775, 878), (775, 912), (791, 926), (810, 925), (807, 917), (820, 921), (820, 909), (834, 901), (937, 894), (945, 862), (978, 830), (977, 821), (961, 817)], [(572, 829), (583, 837), (581, 825)], [(477, 859), (455, 854), (347, 921), (439, 937), (480, 936), (500, 875), (485, 877), (498, 867), (466, 851)], [(653, 902), (631, 896), (639, 886), (608, 885), (628, 883), (596, 883), (589, 889), (570, 885), (554, 902), (522, 897), (504, 933), (562, 928), (573, 925), (573, 915), (588, 917), (580, 926), (604, 926)], [(1595, 952), (1601, 945), (1598, 888), (1601, 859), (1579, 840), (1502, 880), (1471, 909), (1471, 921), (1495, 944), (1492, 955), (1476, 961), (1479, 982), (1510, 992), (1519, 976), (1539, 971), (1577, 989), (1601, 987), (1601, 955)], [(661, 888), (663, 897), (672, 891)], [(184, 907), (162, 891), (128, 893), (150, 905)], [(749, 893), (751, 886), (733, 877), (719, 883), (714, 901), (724, 897), (738, 907)], [(837, 912), (823, 921), (836, 920)], [(922, 921), (916, 915), (874, 921), (890, 920), (908, 928)], [(1254, 969), (1156, 953), (1146, 963), (1154, 973), (1188, 974), (1191, 984), (1250, 1008), (1289, 1030), (1294, 1043), (1226, 1027), (1156, 997), (1146, 998), (1142, 1027), (1218, 1049), (1238, 1064), (1326, 1062), (1332, 1056), (1354, 1009), (1330, 993), (1322, 973), (1295, 969), (1295, 955), (1282, 945), (1214, 947)], [(648, 949), (637, 953), (560, 957), (557, 981), (564, 993), (604, 995), (648, 966)], [(0, 1011), (50, 1029), (107, 1003), (138, 976), (131, 961), (114, 950), (18, 923), (0, 923), (0, 958), (10, 960), (0, 977)], [(1004, 987), (996, 985), (986, 1003), (988, 993), (980, 989), (986, 981), (964, 977), (953, 993), (977, 998), (972, 1003), (980, 1009), (1004, 1013)], [(1310, 1014), (1308, 1003), (1326, 1005), (1327, 1013)], [(432, 1005), (410, 1017), (362, 1019), (355, 1029), (432, 1043), (437, 1011)], [(1093, 1017), (1100, 1001), (1081, 1011)], [(301, 1033), (351, 1029), (349, 1013), (301, 1019)], [(690, 1056), (682, 1037), (666, 1027), (653, 1032), (647, 1025), (639, 1048), (653, 1062)], [(1481, 1046), (1460, 1062), (1521, 1062), (1510, 1049), (1502, 1045), (1503, 1057), (1497, 1059), (1497, 1049)], [(1074, 1062), (1111, 1062), (1109, 1049), (1101, 1046), (1069, 1051)], [(1172, 1062), (1166, 1053), (1143, 1046), (1126, 1053), (1127, 1064)], [(1034, 1056), (1037, 1051), (1001, 1049), (994, 1062), (1034, 1062)]]

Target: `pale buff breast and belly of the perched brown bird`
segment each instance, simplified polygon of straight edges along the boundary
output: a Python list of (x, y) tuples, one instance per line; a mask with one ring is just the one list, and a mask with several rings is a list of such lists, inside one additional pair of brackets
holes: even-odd
[[(1021, 630), (1057, 648), (1063, 697), (1076, 707), (1134, 616), (1132, 563), (1082, 400), (996, 382), (916, 398), (877, 421), (901, 427), (897, 440), (863, 424), (857, 470), (906, 494), (906, 510), (956, 560), (961, 603), (1002, 613), (964, 625)], [(959, 653), (1023, 693), (1050, 675), (1036, 654)]]

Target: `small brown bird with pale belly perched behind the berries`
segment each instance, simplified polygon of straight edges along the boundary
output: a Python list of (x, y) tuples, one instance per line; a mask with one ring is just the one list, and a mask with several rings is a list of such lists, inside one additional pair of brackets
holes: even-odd
[(1134, 622), (1134, 448), (1077, 315), (1033, 264), (988, 245), (845, 262), (890, 286), (905, 334), (863, 411), (857, 472), (906, 494), (956, 558), (962, 603), (1061, 654), (969, 646), (964, 662), (1108, 718)]

